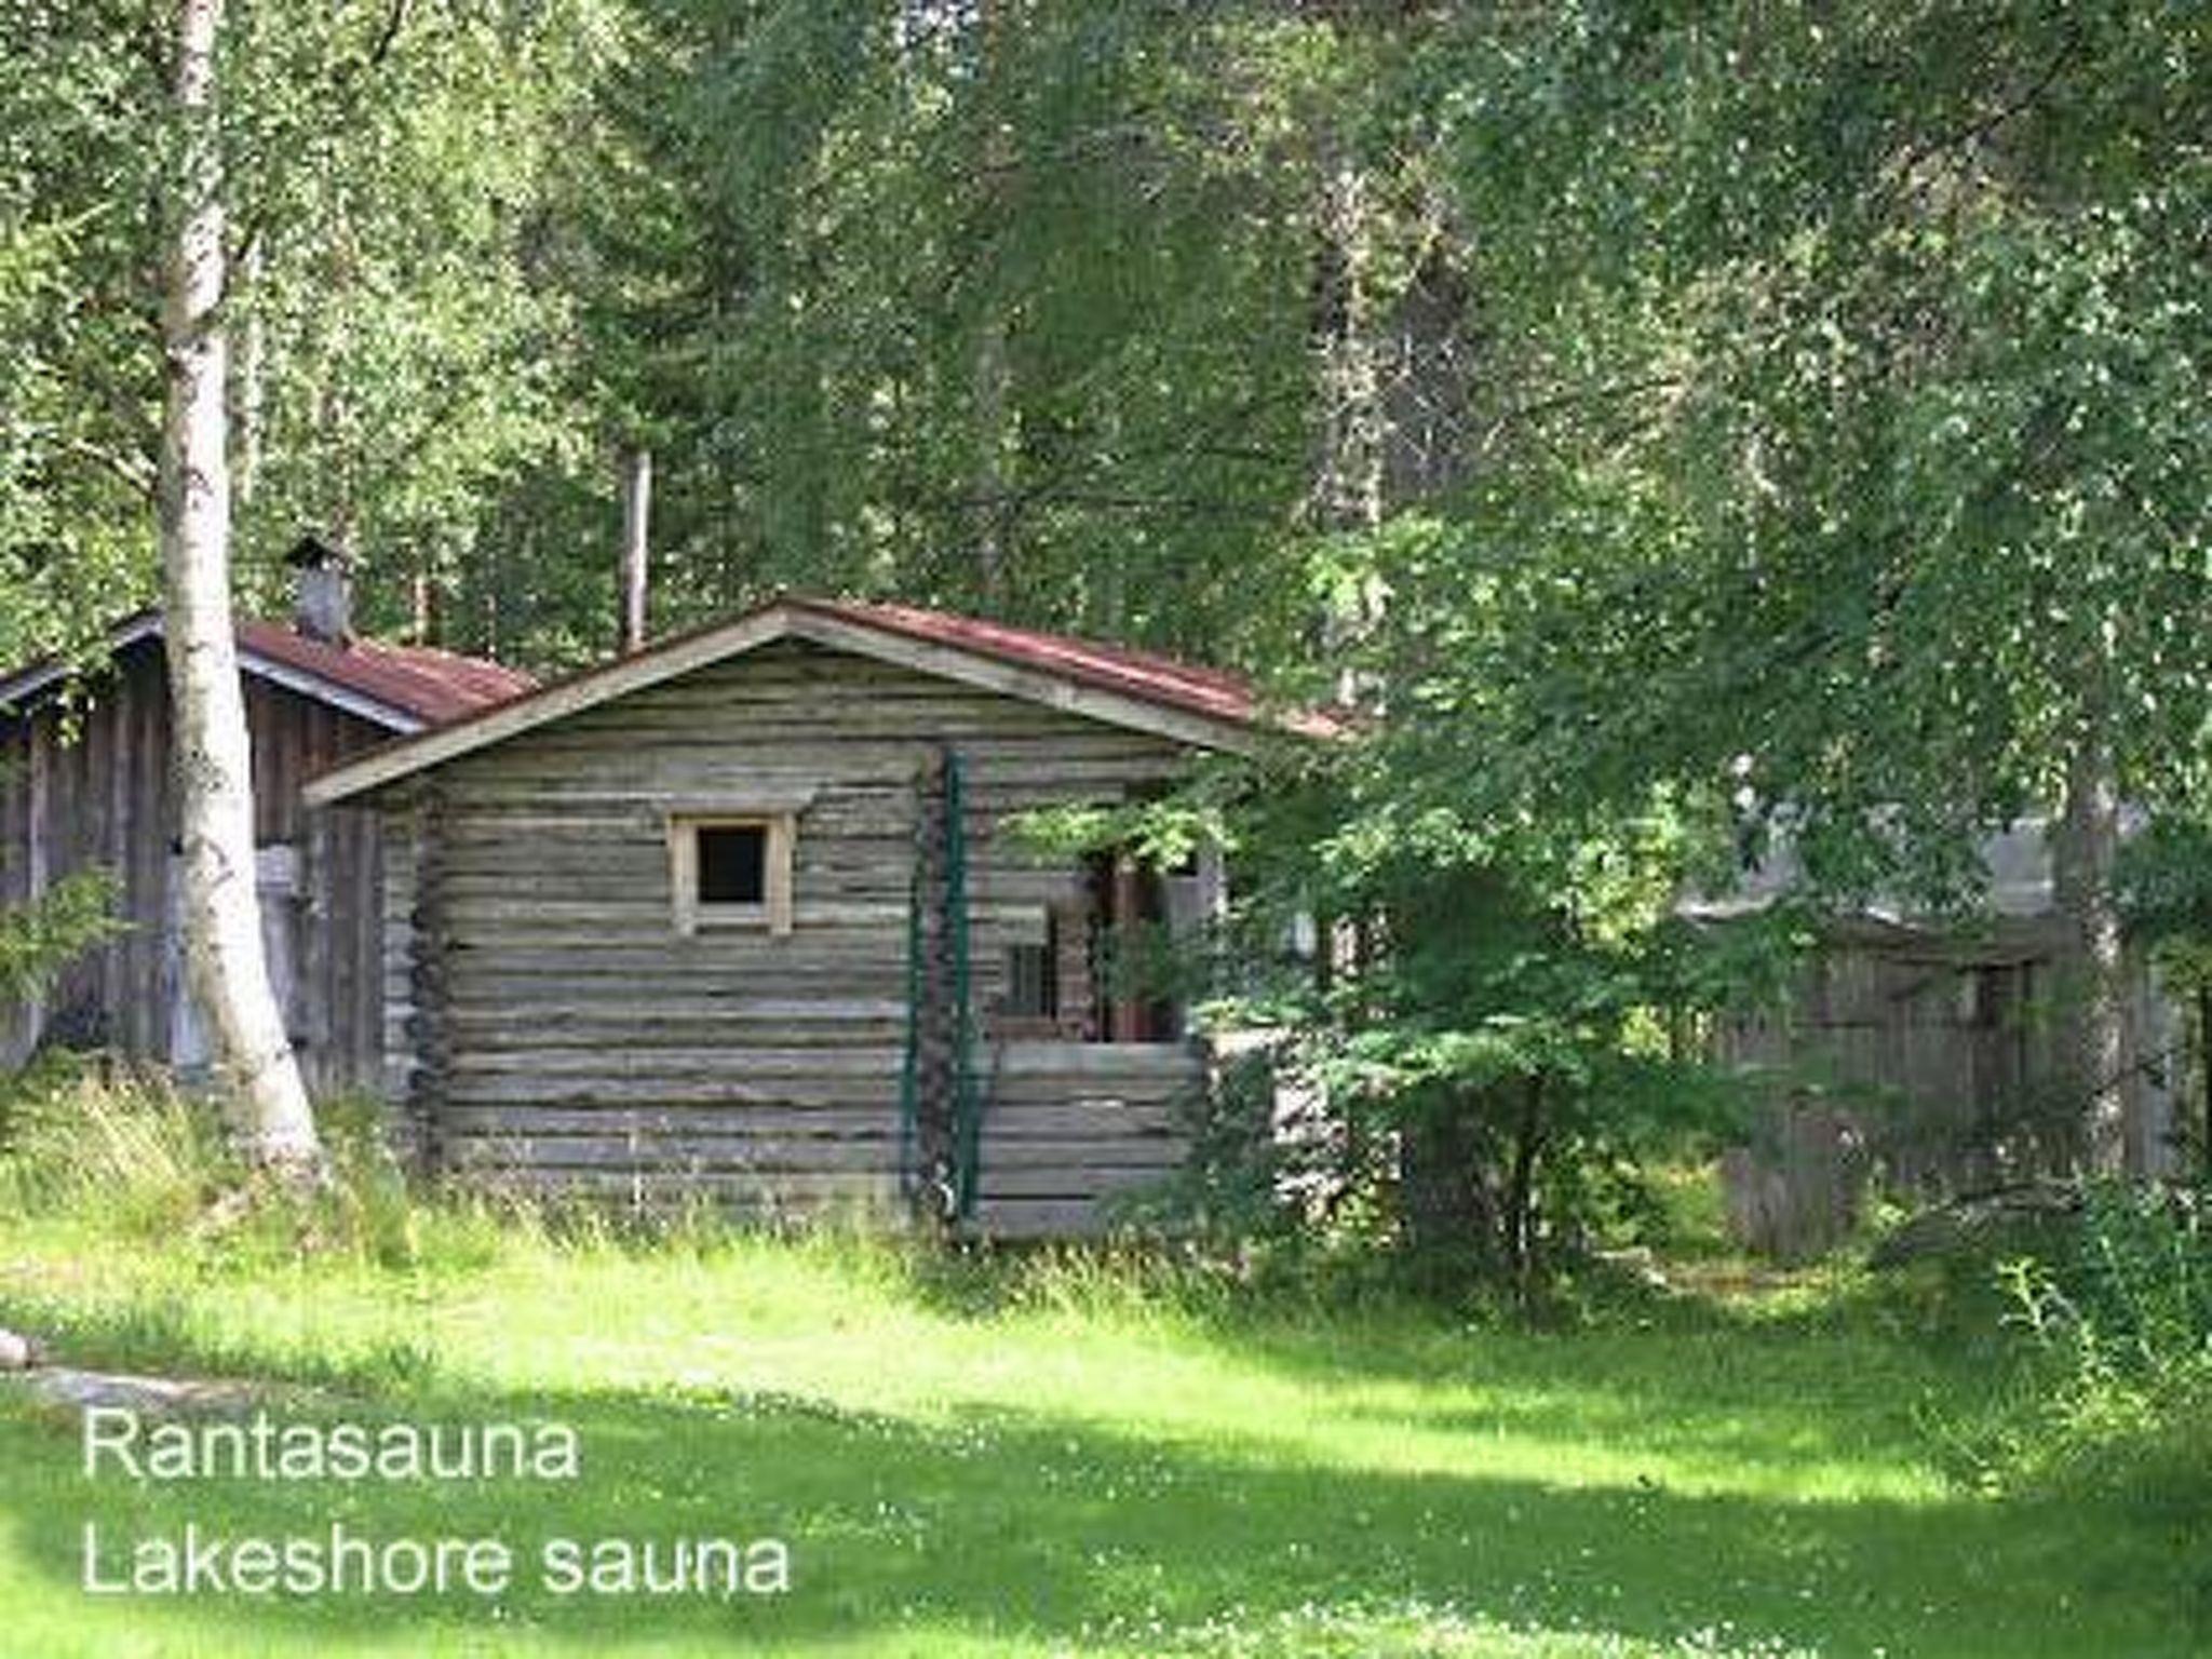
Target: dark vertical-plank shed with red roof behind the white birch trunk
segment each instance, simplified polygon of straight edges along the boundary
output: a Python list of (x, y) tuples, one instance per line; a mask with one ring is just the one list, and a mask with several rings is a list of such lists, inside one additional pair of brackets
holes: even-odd
[[(239, 626), (252, 737), (263, 938), (285, 1020), (319, 1093), (383, 1068), (383, 827), (310, 812), (307, 774), (531, 688), (442, 650)], [(206, 1062), (179, 951), (177, 790), (161, 617), (117, 624), (106, 661), (44, 661), (0, 679), (0, 907), (80, 869), (108, 869), (126, 929), (24, 1006), (0, 1006), (0, 1064), (44, 1042), (192, 1073)]]

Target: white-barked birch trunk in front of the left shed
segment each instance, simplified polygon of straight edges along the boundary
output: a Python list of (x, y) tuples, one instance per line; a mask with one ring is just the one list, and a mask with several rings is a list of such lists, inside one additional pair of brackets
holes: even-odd
[(184, 841), (184, 958), (239, 1141), (257, 1164), (314, 1168), (321, 1148), (270, 989), (254, 889), (246, 697), (230, 628), (223, 177), (215, 113), (221, 0), (177, 9), (184, 159), (161, 305), (161, 593)]

